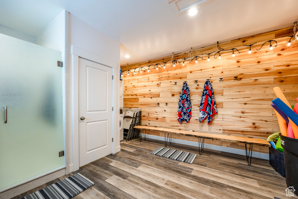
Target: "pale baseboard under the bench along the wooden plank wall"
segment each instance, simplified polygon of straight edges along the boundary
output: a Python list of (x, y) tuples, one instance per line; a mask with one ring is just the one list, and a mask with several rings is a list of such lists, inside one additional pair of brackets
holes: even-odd
[[(164, 141), (164, 137), (157, 136), (157, 135), (146, 135), (146, 138)], [(179, 140), (179, 139), (174, 139), (174, 138), (172, 138), (172, 142), (177, 143), (177, 144), (185, 144), (185, 145), (189, 145), (189, 146), (197, 146), (197, 147), (199, 146), (198, 142)], [(204, 144), (204, 149), (212, 149), (212, 150), (216, 150), (216, 151), (234, 153), (234, 154), (239, 154), (239, 155), (246, 155), (246, 152), (243, 149), (235, 149), (235, 148), (231, 148), (231, 147), (217, 146), (217, 145), (213, 145), (213, 144)], [(269, 160), (269, 154), (267, 154), (267, 153), (253, 152), (252, 157)]]

